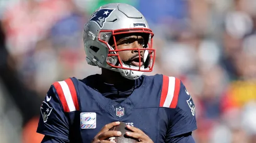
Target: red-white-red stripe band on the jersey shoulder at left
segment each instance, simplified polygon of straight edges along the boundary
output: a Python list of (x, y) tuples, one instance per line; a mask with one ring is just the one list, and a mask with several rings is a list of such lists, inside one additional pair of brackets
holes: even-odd
[(64, 112), (79, 110), (76, 89), (71, 79), (55, 82), (53, 86), (60, 98)]

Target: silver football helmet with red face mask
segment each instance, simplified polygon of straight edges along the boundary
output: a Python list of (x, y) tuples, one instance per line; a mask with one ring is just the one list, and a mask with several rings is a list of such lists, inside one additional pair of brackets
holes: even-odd
[[(115, 36), (126, 33), (146, 33), (144, 48), (117, 49)], [(151, 72), (155, 61), (155, 49), (152, 48), (154, 36), (144, 16), (133, 6), (113, 3), (97, 9), (84, 25), (83, 41), (86, 60), (92, 66), (98, 66), (120, 72), (130, 80), (140, 77), (143, 72)], [(112, 47), (110, 39), (114, 42)], [(139, 66), (125, 64), (119, 57), (119, 51), (137, 50)], [(145, 50), (141, 62), (139, 51)], [(141, 64), (143, 63), (143, 64)]]

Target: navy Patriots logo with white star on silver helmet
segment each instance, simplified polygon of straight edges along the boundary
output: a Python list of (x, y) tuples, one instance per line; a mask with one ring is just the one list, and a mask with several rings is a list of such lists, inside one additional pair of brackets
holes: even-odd
[(111, 15), (113, 10), (114, 9), (110, 9), (110, 8), (99, 9), (98, 11), (94, 12), (94, 14), (92, 14), (89, 21), (95, 22), (96, 24), (98, 24), (98, 26), (101, 29), (104, 23), (106, 22), (106, 19)]

